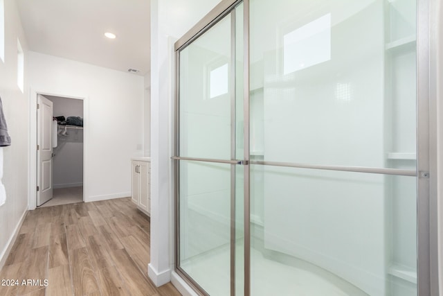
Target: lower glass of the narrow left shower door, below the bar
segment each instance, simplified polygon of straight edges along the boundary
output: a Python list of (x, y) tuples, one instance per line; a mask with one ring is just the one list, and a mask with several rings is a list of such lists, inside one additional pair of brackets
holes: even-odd
[(180, 162), (179, 266), (210, 295), (230, 293), (230, 164)]

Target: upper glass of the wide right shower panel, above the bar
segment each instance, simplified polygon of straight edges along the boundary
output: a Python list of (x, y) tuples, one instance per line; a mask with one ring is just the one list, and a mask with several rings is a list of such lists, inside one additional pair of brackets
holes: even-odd
[(413, 0), (251, 0), (251, 154), (380, 168), (414, 155), (414, 41)]

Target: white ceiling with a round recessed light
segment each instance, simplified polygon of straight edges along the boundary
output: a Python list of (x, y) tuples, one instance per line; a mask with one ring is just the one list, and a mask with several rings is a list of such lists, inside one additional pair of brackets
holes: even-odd
[(17, 0), (17, 6), (31, 51), (150, 71), (150, 0)]

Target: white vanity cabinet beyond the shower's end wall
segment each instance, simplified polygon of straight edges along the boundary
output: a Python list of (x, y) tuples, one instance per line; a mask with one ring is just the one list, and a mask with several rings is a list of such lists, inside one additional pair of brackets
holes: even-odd
[(136, 157), (132, 159), (132, 202), (145, 214), (151, 214), (151, 159)]

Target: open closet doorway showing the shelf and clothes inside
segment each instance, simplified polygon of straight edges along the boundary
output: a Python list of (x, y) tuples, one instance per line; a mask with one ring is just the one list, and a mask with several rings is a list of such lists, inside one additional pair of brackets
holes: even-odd
[[(37, 207), (82, 202), (84, 200), (84, 102), (81, 99), (62, 96), (39, 96), (53, 103), (50, 182), (53, 197), (46, 202), (37, 198)], [(39, 117), (41, 116), (37, 114), (37, 122), (41, 120)], [(37, 137), (39, 132), (42, 132), (42, 129), (37, 124)], [(37, 166), (40, 165), (37, 162)], [(37, 174), (37, 184), (39, 181)]]

